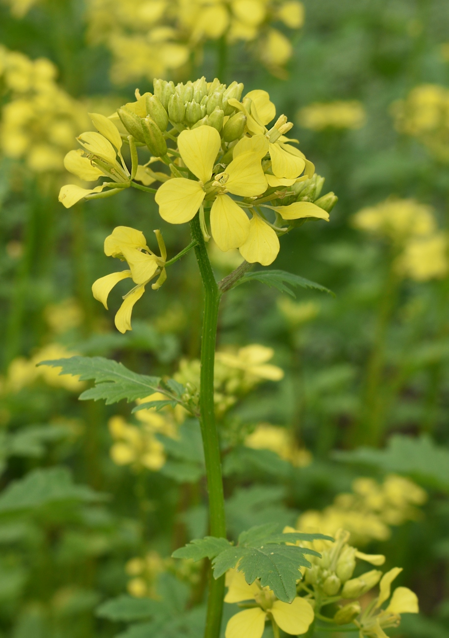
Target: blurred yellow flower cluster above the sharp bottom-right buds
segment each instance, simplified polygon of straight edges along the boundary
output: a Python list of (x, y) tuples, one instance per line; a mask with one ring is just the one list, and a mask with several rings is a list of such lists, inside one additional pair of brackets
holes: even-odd
[(339, 494), (334, 503), (322, 512), (308, 510), (301, 514), (297, 528), (334, 535), (339, 528), (351, 533), (353, 542), (386, 540), (390, 526), (415, 520), (417, 505), (427, 500), (425, 491), (410, 479), (388, 476), (383, 484), (374, 479), (359, 478), (352, 484), (352, 493)]

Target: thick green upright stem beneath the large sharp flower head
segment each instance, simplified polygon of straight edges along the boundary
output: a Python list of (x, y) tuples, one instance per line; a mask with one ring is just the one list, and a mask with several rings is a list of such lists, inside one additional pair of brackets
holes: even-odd
[[(218, 306), (220, 291), (212, 272), (209, 256), (199, 224), (199, 215), (190, 222), (192, 241), (196, 241), (195, 255), (204, 288), (204, 316), (201, 336), (201, 374), (199, 404), (201, 412), (201, 434), (203, 435), (204, 458), (209, 493), (210, 533), (215, 537), (226, 536), (224, 493), (220, 443), (218, 441), (215, 408), (213, 403), (213, 369), (215, 364), (215, 339), (217, 337)], [(218, 638), (222, 621), (224, 598), (224, 576), (219, 579), (209, 575), (208, 611), (204, 638)]]

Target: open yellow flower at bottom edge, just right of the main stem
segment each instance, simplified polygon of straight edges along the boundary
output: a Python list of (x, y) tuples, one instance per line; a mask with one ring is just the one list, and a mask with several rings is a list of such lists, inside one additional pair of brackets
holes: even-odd
[(226, 585), (229, 589), (225, 602), (254, 600), (257, 607), (232, 616), (227, 623), (225, 638), (261, 638), (267, 618), (273, 618), (276, 625), (290, 635), (305, 634), (313, 621), (313, 609), (307, 600), (299, 596), (291, 603), (277, 600), (268, 587), (262, 588), (258, 579), (248, 585), (243, 572), (229, 570)]

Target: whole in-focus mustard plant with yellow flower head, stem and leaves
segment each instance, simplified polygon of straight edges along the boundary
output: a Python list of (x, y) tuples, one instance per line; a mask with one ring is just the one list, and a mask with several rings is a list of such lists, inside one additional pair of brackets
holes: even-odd
[[(190, 223), (192, 241), (175, 256), (167, 254), (160, 230), (154, 231), (158, 244), (155, 250), (141, 230), (115, 228), (104, 241), (104, 252), (125, 262), (126, 267), (95, 281), (92, 292), (107, 308), (113, 286), (122, 279), (132, 279), (134, 287), (124, 296), (115, 316), (120, 332), (131, 330), (132, 308), (146, 286), (153, 281), (153, 290), (160, 288), (171, 264), (194, 249), (204, 287), (201, 360), (183, 363), (171, 379), (137, 375), (122, 364), (101, 357), (73, 357), (53, 361), (52, 365), (61, 367), (62, 373), (80, 375), (81, 381), (96, 380), (98, 385), (83, 392), (82, 399), (102, 398), (108, 403), (139, 399), (138, 411), (153, 411), (146, 415), (147, 422), (141, 429), (122, 419), (110, 422), (115, 441), (111, 454), (116, 462), (136, 470), (162, 469), (164, 452), (157, 445), (158, 429), (159, 433), (167, 431), (170, 421), (172, 435), (176, 436), (176, 422), (182, 423), (186, 413), (199, 419), (211, 536), (195, 540), (174, 556), (213, 560), (206, 614), (208, 638), (217, 638), (220, 632), (224, 575), (234, 568), (245, 573), (249, 584), (257, 581), (260, 588), (268, 587), (273, 592), (260, 603), (260, 626), (266, 616), (273, 616), (275, 625), (279, 620), (276, 628), (305, 631), (313, 619), (313, 610), (297, 598), (296, 581), (301, 575), (299, 568), (311, 566), (304, 554), (319, 554), (295, 543), (315, 538), (332, 540), (297, 531), (284, 534), (276, 523), (243, 532), (238, 545), (226, 539), (216, 413), (220, 416), (236, 397), (257, 383), (280, 380), (283, 371), (270, 363), (273, 350), (264, 346), (253, 344), (215, 353), (220, 298), (250, 279), (284, 291), (289, 290), (286, 284), (323, 290), (322, 286), (287, 272), (249, 271), (255, 263), (273, 263), (280, 251), (280, 237), (296, 226), (312, 219), (328, 221), (337, 200), (334, 193), (321, 195), (324, 179), (315, 174), (313, 164), (294, 145), (297, 140), (285, 137), (293, 125), (285, 115), (276, 118), (276, 108), (266, 91), (250, 91), (243, 98), (242, 94), (243, 85), (237, 82), (226, 86), (217, 79), (206, 82), (202, 77), (175, 86), (173, 82), (155, 80), (153, 94), (141, 96), (136, 91), (136, 101), (119, 108), (117, 114), (109, 118), (91, 114), (97, 132), (82, 133), (78, 137), (81, 148), (70, 151), (64, 164), (82, 181), (101, 182), (91, 188), (68, 184), (59, 195), (68, 208), (82, 199), (111, 197), (126, 188), (137, 188), (155, 195), (164, 221), (173, 225)], [(131, 166), (122, 154), (124, 144), (129, 145)], [(153, 188), (158, 184), (159, 188)], [(243, 258), (236, 270), (220, 282), (215, 279), (206, 250), (211, 237), (219, 251), (238, 249)], [(167, 413), (168, 406), (175, 410), (172, 416)], [(176, 417), (179, 408), (184, 412)], [(162, 424), (151, 416), (154, 410), (164, 411)], [(145, 420), (144, 414), (142, 418)], [(279, 614), (268, 611), (271, 609)], [(289, 616), (286, 609), (296, 614), (290, 624), (282, 619), (285, 614)]]

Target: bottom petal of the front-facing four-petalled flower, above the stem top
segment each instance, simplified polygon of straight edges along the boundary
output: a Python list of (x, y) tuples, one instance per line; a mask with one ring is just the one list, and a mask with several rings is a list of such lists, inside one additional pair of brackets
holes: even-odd
[(212, 237), (222, 251), (241, 246), (250, 232), (250, 220), (229, 195), (218, 195), (213, 202), (210, 226)]

